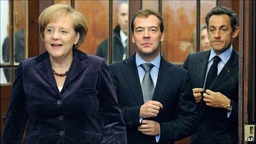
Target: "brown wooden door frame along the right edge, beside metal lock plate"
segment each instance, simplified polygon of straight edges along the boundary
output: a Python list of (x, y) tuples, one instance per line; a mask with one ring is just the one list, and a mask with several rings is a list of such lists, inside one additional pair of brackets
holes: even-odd
[[(255, 1), (239, 1), (239, 143), (244, 125), (255, 124)], [(254, 137), (255, 138), (255, 137)]]

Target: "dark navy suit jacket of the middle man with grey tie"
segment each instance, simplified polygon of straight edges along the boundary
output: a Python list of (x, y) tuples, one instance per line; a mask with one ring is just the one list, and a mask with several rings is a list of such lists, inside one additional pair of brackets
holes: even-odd
[[(127, 129), (128, 143), (156, 143), (155, 136), (137, 130), (140, 106), (143, 105), (140, 80), (135, 55), (109, 66)], [(159, 143), (173, 142), (194, 134), (198, 115), (191, 89), (190, 76), (183, 68), (161, 57), (153, 99), (163, 104), (163, 109), (151, 120), (161, 127)]]

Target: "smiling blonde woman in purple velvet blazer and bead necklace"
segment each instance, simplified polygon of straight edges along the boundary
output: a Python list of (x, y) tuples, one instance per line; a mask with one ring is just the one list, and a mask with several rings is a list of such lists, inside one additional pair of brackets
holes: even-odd
[(83, 14), (65, 4), (38, 19), (46, 52), (20, 62), (2, 143), (126, 143), (124, 120), (103, 58), (77, 48)]

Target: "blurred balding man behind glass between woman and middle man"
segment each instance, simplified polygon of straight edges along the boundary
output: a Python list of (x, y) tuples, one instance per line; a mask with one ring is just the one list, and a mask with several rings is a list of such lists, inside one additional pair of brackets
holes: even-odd
[[(128, 1), (120, 1), (118, 7), (118, 25), (114, 29), (113, 36), (113, 62), (127, 58), (127, 39), (128, 39)], [(99, 46), (96, 55), (108, 60), (108, 41), (105, 39)]]

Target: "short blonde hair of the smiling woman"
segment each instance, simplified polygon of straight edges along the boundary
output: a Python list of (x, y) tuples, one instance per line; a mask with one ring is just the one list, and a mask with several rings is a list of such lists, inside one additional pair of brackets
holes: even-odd
[(83, 43), (88, 31), (86, 17), (78, 10), (66, 4), (54, 4), (42, 11), (38, 18), (40, 36), (44, 40), (44, 31), (47, 24), (55, 22), (57, 18), (68, 17), (74, 26), (74, 31), (79, 33), (79, 40), (75, 45), (77, 48)]

